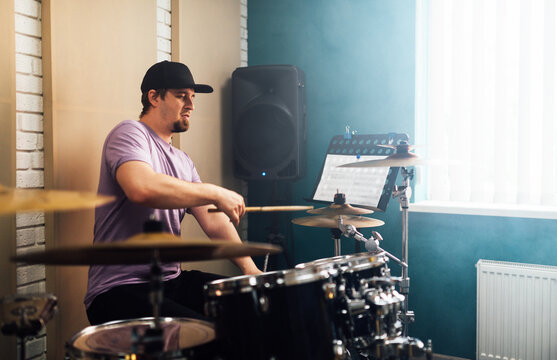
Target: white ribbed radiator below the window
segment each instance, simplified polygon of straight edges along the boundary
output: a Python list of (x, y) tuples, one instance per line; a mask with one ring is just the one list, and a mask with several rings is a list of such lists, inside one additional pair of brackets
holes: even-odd
[(476, 358), (557, 360), (557, 266), (480, 260), (476, 268)]

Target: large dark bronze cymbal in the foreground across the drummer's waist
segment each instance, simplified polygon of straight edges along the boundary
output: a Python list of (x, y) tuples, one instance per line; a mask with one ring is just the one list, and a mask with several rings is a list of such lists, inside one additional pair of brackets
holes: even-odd
[(277, 253), (282, 249), (260, 243), (226, 240), (183, 240), (168, 233), (145, 233), (131, 238), (92, 245), (63, 246), (11, 257), (11, 261), (47, 265), (148, 264), (155, 252), (161, 262), (230, 259)]

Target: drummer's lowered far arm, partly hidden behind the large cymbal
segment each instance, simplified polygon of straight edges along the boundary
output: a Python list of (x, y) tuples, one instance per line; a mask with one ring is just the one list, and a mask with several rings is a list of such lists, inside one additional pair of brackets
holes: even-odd
[[(230, 222), (230, 219), (220, 212), (209, 212), (212, 206), (198, 206), (190, 208), (195, 219), (201, 225), (201, 228), (210, 238), (218, 238), (241, 243), (242, 240), (238, 236), (236, 228)], [(255, 263), (249, 256), (234, 258), (231, 261), (240, 268), (245, 275), (254, 275), (261, 273), (261, 270), (255, 266)]]

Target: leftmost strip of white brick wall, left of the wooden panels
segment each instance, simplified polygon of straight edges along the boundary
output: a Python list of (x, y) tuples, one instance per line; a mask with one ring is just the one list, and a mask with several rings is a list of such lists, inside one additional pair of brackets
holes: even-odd
[[(14, 0), (16, 60), (16, 186), (44, 187), (43, 71), (40, 0)], [(44, 213), (16, 216), (16, 252), (44, 249)], [(44, 293), (45, 267), (18, 266), (19, 294)], [(46, 333), (26, 341), (26, 358), (46, 359)], [(20, 359), (21, 360), (21, 359)]]

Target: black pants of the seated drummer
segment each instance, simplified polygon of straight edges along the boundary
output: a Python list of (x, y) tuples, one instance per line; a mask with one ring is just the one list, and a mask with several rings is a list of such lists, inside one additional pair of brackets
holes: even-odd
[[(177, 278), (164, 281), (161, 316), (207, 320), (203, 315), (203, 286), (222, 278), (221, 275), (192, 270), (182, 271)], [(114, 320), (153, 316), (150, 291), (149, 283), (114, 287), (95, 297), (87, 308), (87, 318), (91, 325), (99, 325)]]

